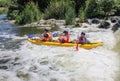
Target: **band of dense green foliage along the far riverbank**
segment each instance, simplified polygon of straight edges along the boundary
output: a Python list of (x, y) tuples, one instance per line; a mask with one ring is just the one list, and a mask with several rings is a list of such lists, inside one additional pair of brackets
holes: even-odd
[[(34, 3), (31, 7), (34, 6), (36, 10), (29, 8), (30, 3)], [(40, 18), (65, 19), (66, 24), (72, 24), (75, 17), (85, 20), (120, 15), (120, 0), (11, 0), (11, 4), (13, 5), (9, 7), (8, 17), (15, 19), (18, 24), (30, 23)]]

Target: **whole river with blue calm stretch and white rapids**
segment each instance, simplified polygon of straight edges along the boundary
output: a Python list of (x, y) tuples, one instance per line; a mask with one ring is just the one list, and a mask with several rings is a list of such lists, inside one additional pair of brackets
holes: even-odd
[[(120, 81), (120, 31), (72, 28), (71, 39), (85, 31), (90, 41), (103, 46), (75, 47), (34, 45), (26, 40), (36, 28), (17, 28), (0, 15), (0, 81)], [(35, 32), (34, 32), (35, 31)]]

